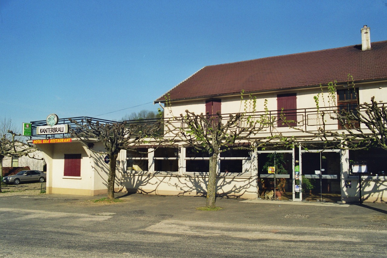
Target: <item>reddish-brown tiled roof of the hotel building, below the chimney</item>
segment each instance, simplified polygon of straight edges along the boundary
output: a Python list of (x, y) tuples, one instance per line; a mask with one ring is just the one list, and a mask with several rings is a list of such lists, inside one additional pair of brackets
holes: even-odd
[[(264, 92), (347, 81), (387, 78), (387, 41), (344, 46), (314, 52), (260, 58), (229, 64), (209, 65), (168, 91), (171, 100)], [(166, 93), (166, 94), (168, 94)], [(165, 95), (166, 95), (165, 94)], [(155, 102), (163, 102), (164, 96)]]

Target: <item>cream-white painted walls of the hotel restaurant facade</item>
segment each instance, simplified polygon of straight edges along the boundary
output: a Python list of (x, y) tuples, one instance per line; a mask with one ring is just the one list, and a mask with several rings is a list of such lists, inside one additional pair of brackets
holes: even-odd
[[(375, 96), (377, 101), (385, 101), (384, 96), (387, 96), (387, 82), (368, 83), (356, 85), (359, 87), (360, 103), (370, 101), (372, 96)], [(296, 89), (295, 91), (287, 91), (297, 94), (297, 108), (311, 109), (314, 114), (315, 101), (313, 96), (321, 92), (319, 87), (314, 89)], [(281, 92), (283, 93), (283, 92)], [(257, 94), (257, 109), (264, 109), (264, 101), (267, 100), (267, 108), (272, 111), (273, 115), (277, 114), (277, 94), (262, 93)], [(247, 99), (248, 96), (245, 96)], [(327, 93), (324, 93), (324, 99), (327, 100)], [(247, 100), (248, 101), (248, 100)], [(322, 105), (322, 97), (320, 96), (320, 108)], [(221, 98), (222, 114), (243, 112), (244, 103), (241, 103), (240, 96), (228, 96)], [(166, 117), (172, 115), (184, 114), (185, 110), (195, 113), (205, 112), (205, 100), (192, 100), (185, 102), (173, 103), (171, 107), (165, 109)], [(312, 112), (312, 113), (313, 113)], [(311, 114), (312, 114), (311, 113)], [(312, 116), (301, 116), (306, 119), (313, 120)], [(314, 118), (315, 119), (315, 118)], [(298, 118), (299, 120), (299, 118)], [(305, 121), (304, 121), (305, 122)], [(315, 130), (319, 126), (319, 122), (309, 121), (310, 126), (307, 130)], [(305, 126), (305, 124), (303, 124)], [(337, 129), (337, 121), (335, 124), (329, 125), (330, 129)], [(284, 135), (302, 135), (300, 131), (289, 129), (288, 127), (277, 127), (277, 131), (281, 131)], [(267, 134), (262, 134), (256, 137), (266, 137)], [(71, 143), (52, 143), (52, 144), (36, 144), (47, 162), (47, 193), (57, 194), (80, 194), (94, 196), (97, 194), (107, 193), (107, 178), (108, 164), (104, 163), (103, 155), (96, 154), (87, 146), (83, 145), (76, 139), (72, 139)], [(154, 147), (149, 146), (149, 153), (146, 156), (147, 167), (141, 168), (141, 171), (128, 169), (127, 151), (121, 151), (117, 162), (116, 185), (115, 190), (121, 193), (145, 193), (145, 194), (161, 194), (161, 195), (205, 195), (206, 191), (206, 173), (196, 171), (188, 172), (187, 163), (190, 158), (186, 155), (186, 148), (176, 146), (178, 152), (177, 157), (164, 158), (171, 162), (177, 162), (178, 169), (176, 171), (158, 171), (156, 169), (157, 160), (163, 158), (155, 157)], [(103, 150), (103, 146), (96, 143), (93, 150)], [(357, 186), (357, 178), (349, 174), (349, 158), (347, 151), (339, 151), (340, 167), (339, 180), (330, 187), (338, 189), (341, 195), (342, 202), (356, 202), (359, 200), (359, 189)], [(80, 153), (81, 158), (81, 175), (80, 177), (65, 177), (63, 176), (64, 154)], [(291, 164), (293, 169), (290, 172), (290, 178), (287, 179), (288, 191), (293, 191), (293, 200), (301, 201), (302, 197), (297, 199), (295, 196), (294, 178), (295, 178), (295, 160), (302, 160), (300, 154), (295, 154), (295, 150), (289, 150), (289, 155), (292, 155)], [(220, 169), (221, 160), (236, 159), (219, 157), (218, 162), (218, 178), (217, 178), (217, 194), (219, 196), (229, 196), (235, 198), (256, 199), (261, 197), (259, 190), (260, 172), (259, 157), (263, 155), (259, 151), (253, 151), (248, 157), (239, 158), (242, 164), (241, 173), (225, 173)], [(205, 158), (203, 158), (205, 160)], [(173, 161), (175, 160), (175, 161)], [(208, 158), (207, 158), (208, 160)], [(302, 167), (302, 166), (301, 166)], [(305, 170), (305, 168), (303, 168)], [(301, 175), (302, 175), (301, 169)], [(387, 199), (387, 177), (384, 176), (365, 176), (363, 182), (362, 195), (364, 201), (385, 202)], [(346, 181), (352, 182), (351, 188), (346, 188)], [(337, 184), (337, 185), (336, 185)], [(333, 189), (332, 188), (332, 189)]]

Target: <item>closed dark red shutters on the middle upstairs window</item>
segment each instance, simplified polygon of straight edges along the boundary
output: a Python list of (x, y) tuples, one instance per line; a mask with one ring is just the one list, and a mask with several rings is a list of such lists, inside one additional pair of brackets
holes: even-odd
[[(278, 110), (278, 126), (296, 126), (297, 125), (297, 95), (296, 93), (287, 93), (287, 94), (278, 94), (277, 95), (277, 110)], [(281, 120), (281, 110), (282, 114), (286, 120), (292, 120), (293, 122), (288, 122), (284, 124)]]

